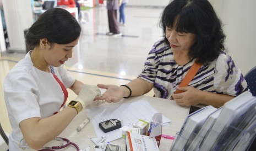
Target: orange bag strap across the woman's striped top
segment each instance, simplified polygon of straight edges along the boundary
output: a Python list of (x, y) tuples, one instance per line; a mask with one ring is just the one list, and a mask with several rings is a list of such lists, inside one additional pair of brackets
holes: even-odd
[[(181, 84), (179, 86), (188, 86), (188, 84), (191, 82), (191, 80), (195, 77), (195, 74), (199, 71), (200, 67), (202, 66), (201, 63), (193, 63), (193, 65), (190, 67), (188, 73), (185, 75), (184, 79), (182, 79)], [(176, 89), (174, 94), (179, 94), (183, 92), (182, 90)]]

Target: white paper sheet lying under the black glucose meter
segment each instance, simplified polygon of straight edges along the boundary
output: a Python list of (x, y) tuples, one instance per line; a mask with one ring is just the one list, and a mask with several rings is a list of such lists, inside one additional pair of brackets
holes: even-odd
[[(158, 113), (148, 101), (140, 100), (130, 103), (112, 103), (111, 106), (96, 107), (87, 109), (88, 115), (90, 115), (91, 123), (94, 126), (97, 137), (106, 136), (105, 142), (111, 142), (122, 137), (122, 132), (117, 129), (111, 132), (103, 132), (99, 123), (109, 119), (118, 119), (122, 121), (122, 126), (132, 127), (139, 119), (148, 121), (152, 119), (155, 113)], [(171, 121), (164, 117), (163, 124), (168, 124)]]

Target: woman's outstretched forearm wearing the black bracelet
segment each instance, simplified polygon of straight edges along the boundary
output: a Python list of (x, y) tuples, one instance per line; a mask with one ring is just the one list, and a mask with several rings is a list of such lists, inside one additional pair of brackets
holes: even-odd
[[(129, 82), (127, 86), (129, 86), (130, 89), (132, 90), (131, 96), (140, 96), (149, 92), (153, 88), (154, 84), (146, 82), (143, 79), (137, 78)], [(125, 91), (125, 96), (128, 96), (129, 90), (124, 86), (121, 86), (121, 87), (123, 87), (122, 89), (124, 89)]]

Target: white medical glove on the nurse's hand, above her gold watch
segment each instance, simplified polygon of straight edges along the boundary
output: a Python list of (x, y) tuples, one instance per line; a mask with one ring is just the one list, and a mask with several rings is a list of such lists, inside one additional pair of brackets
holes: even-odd
[(80, 102), (83, 109), (85, 109), (86, 106), (89, 106), (92, 102), (94, 102), (94, 98), (96, 96), (100, 95), (101, 91), (96, 85), (84, 84), (77, 98), (75, 98), (75, 101)]

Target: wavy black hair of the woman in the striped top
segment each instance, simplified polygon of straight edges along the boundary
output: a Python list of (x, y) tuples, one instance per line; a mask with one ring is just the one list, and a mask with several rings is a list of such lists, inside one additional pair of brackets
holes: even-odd
[[(176, 25), (175, 20), (177, 19)], [(166, 27), (176, 27), (177, 32), (195, 34), (195, 43), (189, 58), (207, 65), (225, 51), (225, 34), (214, 8), (208, 0), (174, 0), (164, 9), (160, 27), (165, 37)], [(165, 42), (169, 44), (165, 37)]]

